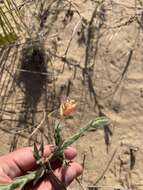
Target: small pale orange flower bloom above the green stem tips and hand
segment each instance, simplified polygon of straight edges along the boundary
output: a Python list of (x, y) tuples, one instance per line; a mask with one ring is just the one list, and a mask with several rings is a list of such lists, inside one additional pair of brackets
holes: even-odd
[(60, 115), (68, 116), (76, 111), (77, 103), (69, 98), (60, 106)]

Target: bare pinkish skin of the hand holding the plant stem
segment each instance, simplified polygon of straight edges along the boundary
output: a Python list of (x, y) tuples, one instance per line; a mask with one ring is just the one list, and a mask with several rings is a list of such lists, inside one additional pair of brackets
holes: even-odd
[[(44, 148), (44, 157), (48, 157), (52, 153), (52, 146), (46, 145)], [(0, 157), (0, 183), (11, 182), (15, 177), (26, 174), (36, 168), (36, 161), (33, 157), (32, 147), (18, 149), (12, 153)], [(64, 156), (67, 160), (73, 160), (77, 155), (74, 148), (67, 148)], [(66, 186), (68, 186), (76, 177), (82, 173), (82, 167), (78, 163), (71, 161), (69, 166), (62, 166), (54, 171), (54, 175)], [(36, 186), (26, 188), (30, 190), (59, 190), (57, 184), (51, 183), (51, 180), (44, 178)]]

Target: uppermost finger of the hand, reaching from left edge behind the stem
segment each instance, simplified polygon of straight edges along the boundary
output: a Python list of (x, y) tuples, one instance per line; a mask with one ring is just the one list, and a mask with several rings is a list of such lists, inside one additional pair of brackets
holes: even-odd
[[(44, 156), (51, 154), (53, 146), (46, 145), (44, 148)], [(11, 178), (22, 175), (26, 171), (36, 167), (36, 161), (33, 157), (32, 147), (21, 148), (5, 156), (0, 157), (0, 168)]]

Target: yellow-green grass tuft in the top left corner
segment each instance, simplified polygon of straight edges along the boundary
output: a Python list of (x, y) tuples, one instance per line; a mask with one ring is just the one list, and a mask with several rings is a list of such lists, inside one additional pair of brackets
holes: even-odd
[(20, 10), (13, 0), (5, 0), (0, 5), (0, 46), (9, 46), (21, 37), (27, 26), (23, 23)]

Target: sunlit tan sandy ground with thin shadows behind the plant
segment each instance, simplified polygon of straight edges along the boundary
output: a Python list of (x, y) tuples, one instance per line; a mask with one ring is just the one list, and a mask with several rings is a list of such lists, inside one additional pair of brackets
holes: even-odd
[[(53, 18), (51, 22), (51, 17), (48, 17), (46, 26), (41, 30), (41, 33), (49, 30), (48, 36), (56, 36), (47, 37), (44, 43), (48, 56), (49, 50), (59, 56), (52, 58), (48, 69), (43, 70), (48, 71), (52, 79), (38, 75), (39, 78), (31, 77), (27, 82), (25, 78), (29, 75), (16, 71), (20, 65), (19, 61), (16, 62), (9, 67), (9, 71), (20, 75), (17, 80), (23, 89), (31, 85), (32, 90), (27, 88), (26, 95), (10, 80), (7, 70), (3, 72), (0, 81), (0, 154), (8, 152), (12, 142), (22, 146), (28, 132), (22, 133), (24, 138), (19, 137), (17, 140), (13, 138), (15, 130), (23, 130), (24, 126), (28, 126), (30, 132), (32, 126), (37, 126), (42, 120), (43, 110), (48, 114), (58, 107), (59, 99), (69, 94), (78, 102), (78, 110), (74, 119), (66, 121), (66, 136), (98, 115), (104, 114), (111, 121), (105, 130), (90, 133), (74, 144), (78, 150), (77, 160), (84, 163), (84, 173), (80, 178), (84, 187), (142, 190), (143, 34), (140, 1), (107, 0), (99, 7), (90, 0), (72, 2), (75, 2), (72, 5), (76, 11), (84, 17), (85, 28), (81, 27), (81, 19), (76, 12), (72, 19), (70, 16), (64, 18), (62, 12), (56, 21)], [(96, 14), (92, 19), (95, 9)], [(71, 19), (70, 23), (68, 19)], [(35, 22), (34, 19), (30, 22), (31, 28), (34, 28)], [(52, 30), (48, 28), (50, 26)], [(63, 68), (61, 57), (66, 52), (71, 36)], [(7, 80), (4, 80), (6, 77)], [(30, 80), (32, 83), (29, 83)], [(45, 82), (41, 84), (43, 80)], [(36, 103), (32, 99), (32, 103), (27, 101), (32, 93), (37, 94), (34, 96)], [(47, 120), (43, 124), (44, 130), (47, 130), (46, 127), (50, 131)], [(47, 135), (52, 135), (52, 131)], [(47, 141), (50, 142), (50, 138)], [(80, 189), (80, 186), (75, 182), (69, 189)]]

